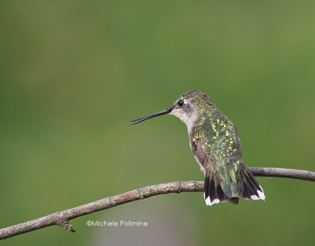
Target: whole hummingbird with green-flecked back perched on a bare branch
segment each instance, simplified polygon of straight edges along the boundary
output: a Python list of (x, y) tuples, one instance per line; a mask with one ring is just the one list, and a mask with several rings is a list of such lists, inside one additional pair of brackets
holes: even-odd
[(192, 153), (205, 174), (206, 205), (237, 204), (265, 200), (263, 188), (241, 160), (241, 143), (235, 125), (200, 91), (182, 94), (170, 108), (131, 121), (137, 124), (163, 114), (178, 117), (187, 125)]

